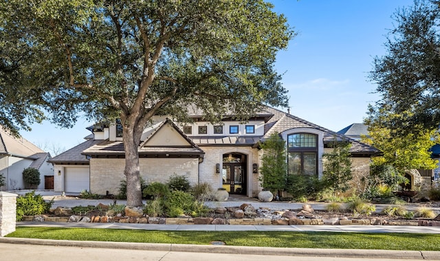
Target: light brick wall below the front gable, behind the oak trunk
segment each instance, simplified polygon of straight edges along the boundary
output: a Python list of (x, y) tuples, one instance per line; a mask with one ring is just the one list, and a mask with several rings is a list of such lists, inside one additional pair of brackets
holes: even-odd
[[(168, 181), (170, 176), (186, 176), (191, 185), (197, 184), (198, 158), (140, 158), (140, 176), (147, 182)], [(105, 195), (118, 194), (124, 176), (123, 158), (91, 158), (90, 192)]]

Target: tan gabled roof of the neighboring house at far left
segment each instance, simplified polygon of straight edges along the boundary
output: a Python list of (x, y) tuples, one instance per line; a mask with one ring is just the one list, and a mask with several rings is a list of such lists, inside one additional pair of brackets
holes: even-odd
[(12, 136), (0, 127), (0, 154), (10, 154), (25, 158), (36, 153), (44, 153), (44, 151), (25, 138)]

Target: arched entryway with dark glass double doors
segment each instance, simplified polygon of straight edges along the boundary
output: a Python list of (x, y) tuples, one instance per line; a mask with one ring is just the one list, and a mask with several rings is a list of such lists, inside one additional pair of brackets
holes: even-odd
[(223, 154), (223, 169), (221, 176), (223, 188), (229, 194), (246, 195), (248, 171), (248, 158), (245, 154), (229, 153)]

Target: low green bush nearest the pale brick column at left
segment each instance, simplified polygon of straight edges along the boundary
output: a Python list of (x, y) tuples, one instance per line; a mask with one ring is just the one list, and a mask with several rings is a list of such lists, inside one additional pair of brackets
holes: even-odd
[(26, 193), (25, 196), (17, 197), (17, 221), (21, 221), (23, 216), (41, 215), (49, 212), (54, 204), (54, 200), (45, 202), (41, 195), (35, 195), (35, 191)]

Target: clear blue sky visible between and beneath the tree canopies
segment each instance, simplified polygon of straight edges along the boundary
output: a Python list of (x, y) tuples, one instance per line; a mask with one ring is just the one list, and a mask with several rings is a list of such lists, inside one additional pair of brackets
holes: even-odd
[[(271, 0), (298, 34), (278, 53), (275, 68), (283, 74), (290, 113), (338, 132), (362, 123), (369, 103), (380, 96), (368, 79), (375, 56), (386, 54), (392, 16), (412, 0)], [(283, 109), (287, 112), (287, 109)], [(91, 134), (91, 122), (79, 118), (72, 129), (44, 122), (21, 132), (51, 152), (63, 152)]]

